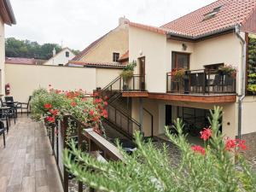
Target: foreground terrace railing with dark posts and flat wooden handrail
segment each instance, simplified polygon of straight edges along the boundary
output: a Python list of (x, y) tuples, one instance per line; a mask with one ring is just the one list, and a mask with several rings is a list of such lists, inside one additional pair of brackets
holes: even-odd
[[(78, 119), (73, 118), (71, 115), (65, 115), (63, 121), (58, 120), (54, 125), (47, 126), (49, 142), (52, 148), (52, 154), (55, 156), (56, 165), (58, 167), (59, 175), (64, 192), (69, 191), (71, 179), (73, 176), (67, 172), (66, 167), (63, 165), (62, 153), (67, 145), (67, 131), (69, 125), (72, 125), (72, 134), (68, 137), (78, 143), (77, 148), (81, 149), (84, 153), (89, 153), (94, 157), (101, 157), (102, 160), (123, 160), (119, 149), (112, 143), (108, 142), (104, 137), (97, 134), (93, 129), (81, 123)], [(84, 191), (84, 184), (77, 183), (78, 192)], [(94, 191), (90, 189), (90, 191)]]

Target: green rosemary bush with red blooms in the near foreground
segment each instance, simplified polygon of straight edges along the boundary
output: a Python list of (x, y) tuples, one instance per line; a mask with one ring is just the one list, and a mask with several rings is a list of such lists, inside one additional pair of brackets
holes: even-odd
[[(177, 119), (177, 136), (166, 136), (179, 148), (180, 162), (175, 165), (168, 146), (155, 148), (135, 134), (137, 151), (128, 155), (119, 147), (124, 161), (97, 161), (71, 141), (64, 152), (64, 164), (79, 181), (99, 191), (255, 191), (256, 177), (239, 153), (243, 141), (227, 139), (219, 130), (222, 108), (214, 108), (209, 119), (212, 129), (201, 132), (205, 148), (190, 146), (183, 135), (182, 120)], [(236, 157), (240, 169), (234, 166)], [(73, 159), (74, 158), (74, 159)]]

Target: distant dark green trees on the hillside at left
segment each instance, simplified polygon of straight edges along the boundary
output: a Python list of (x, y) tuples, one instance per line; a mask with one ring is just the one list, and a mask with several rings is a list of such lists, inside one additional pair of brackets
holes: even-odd
[[(7, 57), (26, 57), (42, 60), (49, 60), (52, 57), (52, 50), (55, 48), (56, 53), (61, 51), (59, 44), (43, 44), (29, 40), (19, 40), (16, 38), (6, 38), (5, 55)], [(74, 54), (79, 50), (74, 50)]]

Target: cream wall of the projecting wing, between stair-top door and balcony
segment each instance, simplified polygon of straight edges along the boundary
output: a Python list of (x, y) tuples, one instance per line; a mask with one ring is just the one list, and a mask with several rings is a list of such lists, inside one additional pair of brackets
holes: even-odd
[[(166, 92), (166, 36), (137, 27), (129, 28), (129, 61), (145, 56), (146, 89)], [(138, 71), (138, 62), (135, 69)]]

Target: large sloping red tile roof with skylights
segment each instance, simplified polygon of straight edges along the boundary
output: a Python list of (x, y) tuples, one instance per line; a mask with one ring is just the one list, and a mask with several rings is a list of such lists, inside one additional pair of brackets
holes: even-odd
[[(206, 15), (220, 6), (221, 8), (214, 16), (206, 19)], [(255, 6), (256, 0), (218, 0), (160, 27), (176, 34), (198, 38), (204, 34), (241, 25), (253, 12)]]

